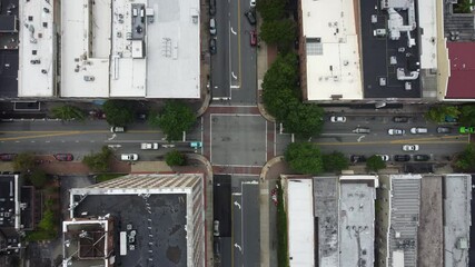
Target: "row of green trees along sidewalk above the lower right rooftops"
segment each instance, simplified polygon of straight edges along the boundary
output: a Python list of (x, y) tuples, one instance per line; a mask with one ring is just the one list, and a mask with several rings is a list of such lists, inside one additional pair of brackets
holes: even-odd
[[(474, 150), (475, 151), (475, 150)], [(299, 174), (319, 175), (347, 169), (348, 158), (342, 152), (321, 154), (311, 142), (291, 142), (285, 151), (285, 159), (290, 169)], [(378, 171), (386, 168), (386, 162), (379, 156), (372, 156), (366, 161), (366, 168)]]

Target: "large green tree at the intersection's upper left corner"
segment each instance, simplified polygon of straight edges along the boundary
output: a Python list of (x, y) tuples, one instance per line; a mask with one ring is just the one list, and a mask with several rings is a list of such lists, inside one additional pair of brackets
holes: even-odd
[(182, 132), (189, 131), (195, 122), (196, 116), (191, 108), (176, 100), (166, 101), (164, 110), (158, 115), (158, 126), (167, 135), (168, 141), (180, 140)]

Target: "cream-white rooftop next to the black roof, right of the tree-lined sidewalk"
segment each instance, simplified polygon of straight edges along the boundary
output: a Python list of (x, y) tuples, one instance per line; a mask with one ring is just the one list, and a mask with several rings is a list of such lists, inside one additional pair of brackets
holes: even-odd
[(363, 99), (353, 0), (301, 0), (307, 99)]

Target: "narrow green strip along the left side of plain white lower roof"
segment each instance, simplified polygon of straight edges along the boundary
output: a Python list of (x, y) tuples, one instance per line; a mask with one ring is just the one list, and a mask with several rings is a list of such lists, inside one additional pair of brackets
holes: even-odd
[(277, 181), (277, 261), (279, 267), (288, 267), (287, 212), (284, 207), (284, 190)]

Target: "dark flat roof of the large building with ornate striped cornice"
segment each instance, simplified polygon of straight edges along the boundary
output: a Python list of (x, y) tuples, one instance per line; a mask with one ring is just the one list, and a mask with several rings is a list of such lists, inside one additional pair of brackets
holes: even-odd
[[(72, 191), (75, 192), (75, 191)], [(79, 199), (81, 195), (76, 195)], [(116, 218), (116, 261), (121, 266), (187, 266), (186, 195), (90, 195), (75, 209), (75, 217)], [(81, 216), (83, 214), (85, 216)], [(131, 225), (137, 230), (135, 250), (119, 255), (119, 233)], [(90, 266), (90, 265), (87, 265)]]

